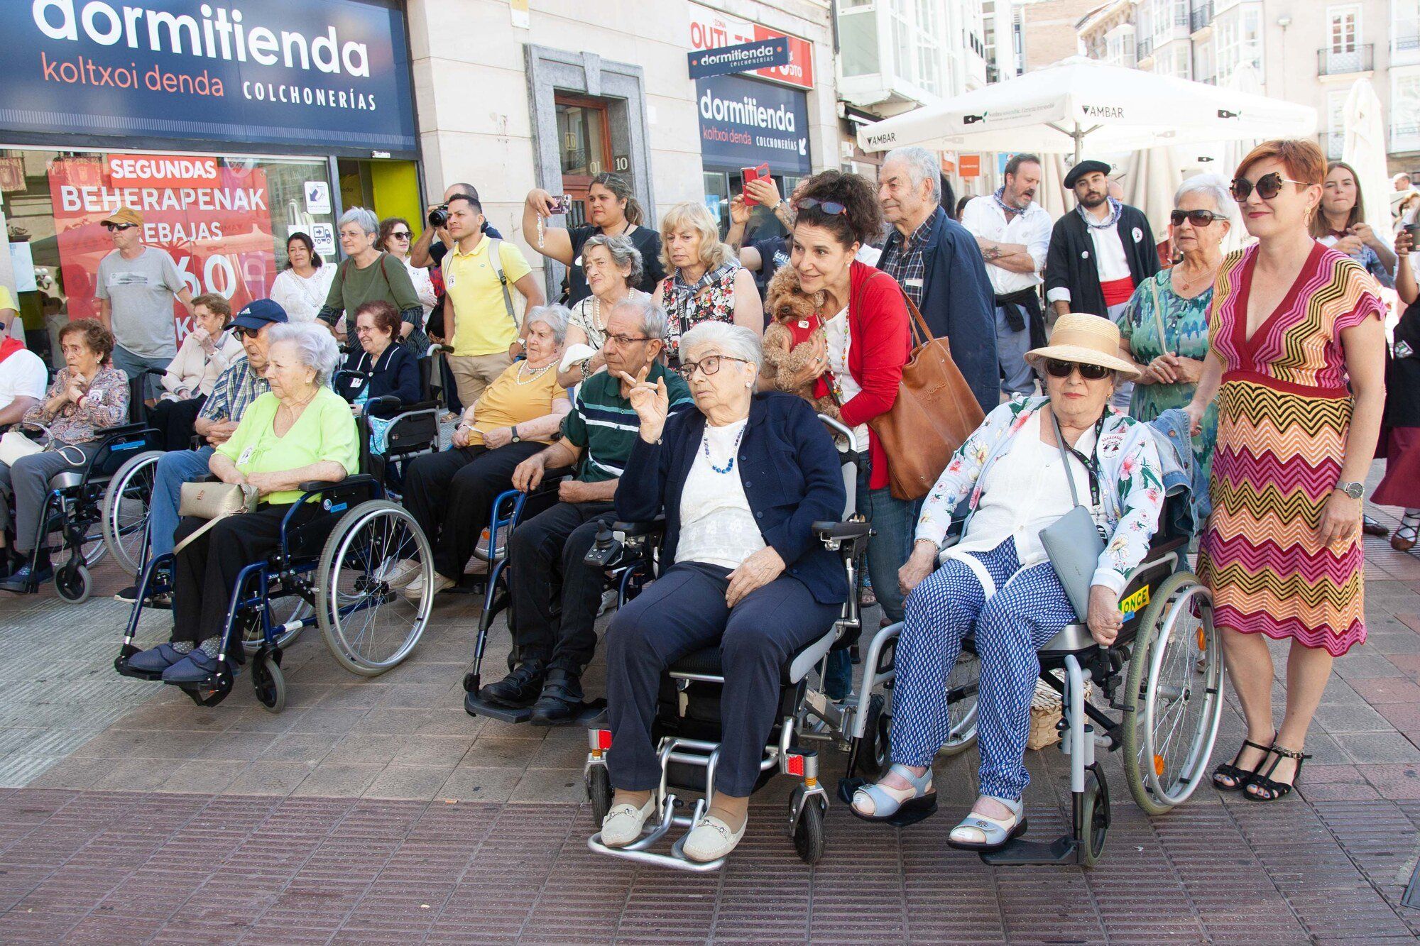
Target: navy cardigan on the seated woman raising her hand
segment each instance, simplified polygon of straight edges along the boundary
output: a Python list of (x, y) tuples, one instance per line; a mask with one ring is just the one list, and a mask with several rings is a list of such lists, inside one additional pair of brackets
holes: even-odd
[[(684, 411), (666, 420), (660, 443), (638, 436), (616, 486), (619, 518), (648, 521), (665, 511), (660, 561), (667, 567), (680, 541), (680, 493), (704, 429), (703, 413)], [(784, 560), (785, 574), (804, 582), (815, 601), (842, 604), (848, 598), (843, 565), (814, 535), (812, 524), (841, 520), (848, 493), (838, 450), (814, 408), (794, 395), (757, 393), (736, 469), (760, 534)]]

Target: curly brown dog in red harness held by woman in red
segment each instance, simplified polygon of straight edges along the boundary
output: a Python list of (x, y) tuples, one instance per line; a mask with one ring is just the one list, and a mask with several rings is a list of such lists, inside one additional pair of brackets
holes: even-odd
[(768, 328), (764, 330), (763, 375), (777, 391), (797, 393), (819, 413), (838, 418), (826, 381), (815, 368), (825, 351), (824, 327), (818, 317), (822, 293), (805, 293), (792, 266), (781, 266), (770, 278), (767, 294)]

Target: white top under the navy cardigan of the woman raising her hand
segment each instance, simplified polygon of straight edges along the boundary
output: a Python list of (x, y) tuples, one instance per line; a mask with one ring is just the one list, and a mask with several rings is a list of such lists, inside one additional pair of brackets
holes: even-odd
[[(747, 423), (748, 418), (723, 428), (706, 425), (680, 493), (676, 561), (733, 570), (764, 548), (764, 535), (740, 483), (738, 450)], [(734, 466), (726, 473), (711, 469), (713, 463), (723, 470), (731, 460)]]

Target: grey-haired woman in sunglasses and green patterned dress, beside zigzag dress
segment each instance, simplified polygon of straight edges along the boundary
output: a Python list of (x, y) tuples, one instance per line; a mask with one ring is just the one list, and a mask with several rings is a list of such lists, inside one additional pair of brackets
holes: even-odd
[[(1193, 401), (1208, 354), (1213, 277), (1237, 210), (1220, 175), (1189, 178), (1173, 197), (1169, 237), (1179, 261), (1140, 283), (1118, 320), (1119, 349), (1139, 368), (1129, 402), (1136, 420), (1153, 420)], [(1207, 483), (1217, 430), (1217, 405), (1210, 405), (1203, 432), (1193, 442), (1198, 483)]]

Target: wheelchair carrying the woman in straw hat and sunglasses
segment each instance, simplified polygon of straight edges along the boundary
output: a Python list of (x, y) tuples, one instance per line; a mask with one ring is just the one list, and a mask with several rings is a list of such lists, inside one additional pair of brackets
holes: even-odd
[[(1170, 534), (1167, 527), (1179, 520), (1170, 513), (1173, 504), (1187, 501), (1187, 493), (1166, 497), (1160, 517), (1164, 526), (1120, 595), (1125, 624), (1116, 641), (1100, 646), (1089, 628), (1076, 622), (1038, 652), (1039, 680), (1061, 696), (1056, 730), (1071, 766), (1071, 830), (1048, 844), (1015, 838), (981, 852), (987, 864), (1093, 866), (1099, 861), (1110, 814), (1096, 746), (1123, 750), (1129, 794), (1150, 815), (1183, 804), (1207, 778), (1223, 713), (1223, 649), (1213, 625), (1213, 597), (1187, 570), (1191, 534)], [(957, 538), (949, 537), (947, 545)], [(848, 774), (839, 781), (845, 803), (868, 778), (888, 768), (893, 655), (900, 632), (900, 624), (883, 628), (863, 655)], [(947, 679), (950, 730), (939, 754), (956, 756), (976, 744), (978, 680), (980, 662), (968, 635)], [(1119, 713), (1118, 720), (1086, 699), (1088, 683), (1099, 687), (1108, 709)]]

